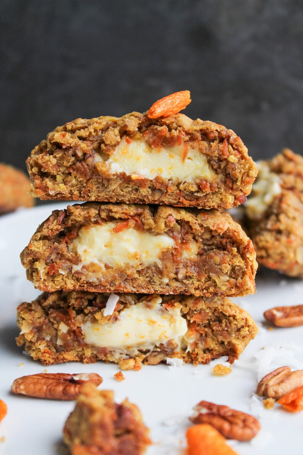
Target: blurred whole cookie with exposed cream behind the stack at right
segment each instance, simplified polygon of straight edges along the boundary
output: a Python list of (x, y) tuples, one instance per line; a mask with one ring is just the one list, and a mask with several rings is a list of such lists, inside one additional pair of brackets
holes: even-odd
[(303, 157), (284, 149), (258, 168), (245, 207), (258, 263), (303, 278)]

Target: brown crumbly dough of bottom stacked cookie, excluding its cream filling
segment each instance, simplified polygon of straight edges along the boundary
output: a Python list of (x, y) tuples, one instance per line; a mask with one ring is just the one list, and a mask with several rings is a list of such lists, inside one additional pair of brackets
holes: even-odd
[[(208, 364), (213, 359), (228, 356), (232, 363), (257, 333), (251, 316), (228, 298), (196, 298), (194, 296), (162, 296), (162, 304), (181, 308), (193, 345), (178, 347), (174, 343), (155, 346), (130, 356), (117, 354), (109, 348), (86, 344), (81, 326), (87, 319), (114, 322), (125, 306), (138, 303), (150, 296), (120, 294), (111, 316), (103, 316), (109, 294), (63, 292), (44, 293), (31, 303), (22, 303), (17, 309), (17, 322), (21, 334), (18, 346), (44, 365), (69, 361), (94, 363), (98, 360), (115, 362), (121, 369), (140, 369), (144, 364), (159, 364), (167, 357), (183, 359), (186, 363)], [(69, 329), (63, 333), (60, 323)], [(198, 335), (198, 338), (197, 338)], [(58, 340), (59, 343), (58, 343)], [(188, 349), (189, 348), (189, 349)]]

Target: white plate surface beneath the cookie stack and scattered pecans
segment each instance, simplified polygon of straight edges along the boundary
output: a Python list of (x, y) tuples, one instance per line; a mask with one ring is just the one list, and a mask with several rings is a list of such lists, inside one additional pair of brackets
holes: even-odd
[[(0, 442), (0, 454), (68, 454), (62, 441), (62, 427), (74, 408), (74, 402), (34, 399), (10, 393), (14, 379), (45, 369), (23, 354), (23, 348), (15, 344), (18, 335), (16, 307), (39, 295), (32, 283), (26, 281), (19, 255), (51, 210), (66, 205), (65, 202), (22, 209), (0, 218), (0, 398), (8, 406), (8, 414), (0, 423), (0, 438), (5, 437), (4, 442)], [(259, 357), (266, 352), (268, 357), (274, 352), (280, 354), (265, 367), (264, 374), (286, 364), (293, 369), (303, 369), (303, 327), (268, 330), (263, 320), (263, 311), (268, 308), (303, 303), (303, 281), (261, 271), (257, 278), (257, 293), (234, 299), (234, 302), (251, 313), (259, 327), (259, 334), (240, 357), (240, 361), (247, 362), (248, 366), (253, 363), (252, 369), (234, 364), (232, 374), (215, 377), (212, 375), (213, 366), (222, 363), (222, 359), (197, 368), (192, 365), (175, 369), (167, 365), (144, 366), (137, 372), (124, 372), (126, 379), (123, 382), (113, 378), (119, 370), (117, 365), (102, 362), (52, 365), (47, 367), (47, 371), (98, 373), (104, 379), (100, 387), (114, 389), (118, 401), (128, 397), (137, 404), (155, 443), (147, 451), (148, 455), (184, 453), (182, 446), (184, 431), (189, 425), (188, 416), (192, 407), (202, 399), (226, 404), (259, 418), (262, 429), (253, 441), (230, 442), (239, 455), (302, 453), (303, 413), (289, 414), (278, 405), (273, 410), (265, 410), (258, 399), (251, 397), (258, 383), (260, 363), (254, 354), (259, 354)], [(275, 350), (267, 351), (269, 347)], [(263, 358), (261, 363), (264, 362), (266, 364)]]

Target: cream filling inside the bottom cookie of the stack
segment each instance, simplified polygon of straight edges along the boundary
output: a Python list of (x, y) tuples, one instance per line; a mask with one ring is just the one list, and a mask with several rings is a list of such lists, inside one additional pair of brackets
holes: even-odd
[(161, 302), (162, 298), (156, 297), (131, 305), (114, 323), (86, 322), (82, 326), (85, 342), (113, 349), (153, 349), (170, 339), (180, 343), (187, 332), (186, 320), (179, 308), (166, 309)]

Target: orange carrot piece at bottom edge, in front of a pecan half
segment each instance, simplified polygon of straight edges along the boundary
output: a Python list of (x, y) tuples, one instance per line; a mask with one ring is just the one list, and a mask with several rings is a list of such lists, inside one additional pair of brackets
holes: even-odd
[(186, 431), (187, 455), (237, 455), (224, 436), (208, 424), (194, 425)]

